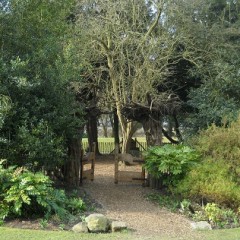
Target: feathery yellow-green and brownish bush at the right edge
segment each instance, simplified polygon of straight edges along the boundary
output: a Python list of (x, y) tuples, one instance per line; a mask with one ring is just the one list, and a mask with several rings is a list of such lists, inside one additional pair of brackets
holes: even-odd
[(240, 118), (228, 126), (209, 127), (195, 139), (202, 154), (201, 164), (195, 166), (176, 191), (197, 201), (215, 202), (233, 209), (240, 202)]

